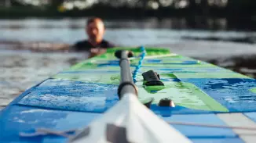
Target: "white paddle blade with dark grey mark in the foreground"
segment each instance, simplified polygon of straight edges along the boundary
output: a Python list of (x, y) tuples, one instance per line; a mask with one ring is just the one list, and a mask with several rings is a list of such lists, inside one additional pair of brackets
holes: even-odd
[(70, 139), (70, 143), (85, 142), (188, 143), (192, 141), (142, 105), (135, 95), (126, 94), (112, 109)]

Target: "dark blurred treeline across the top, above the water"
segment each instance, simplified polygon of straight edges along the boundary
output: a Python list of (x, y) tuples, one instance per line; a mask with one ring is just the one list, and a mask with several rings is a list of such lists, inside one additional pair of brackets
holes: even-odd
[[(10, 7), (0, 7), (0, 17), (22, 16), (103, 16), (103, 17), (144, 17), (144, 16), (205, 16), (232, 17), (256, 19), (255, 0), (229, 0), (221, 5), (223, 0), (187, 0), (185, 7), (177, 6), (181, 0), (173, 0), (170, 5), (163, 5), (160, 0), (101, 0), (87, 9), (60, 10), (64, 0), (52, 0), (49, 5), (24, 5), (20, 1), (10, 1)], [(152, 9), (150, 2), (157, 3), (157, 9)], [(162, 3), (161, 3), (162, 2)], [(197, 2), (197, 3), (196, 3)], [(214, 3), (210, 3), (214, 2)]]

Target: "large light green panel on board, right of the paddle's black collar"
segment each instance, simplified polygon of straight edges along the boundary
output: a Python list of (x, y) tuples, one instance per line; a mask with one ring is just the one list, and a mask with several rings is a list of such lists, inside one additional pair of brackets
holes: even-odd
[[(140, 83), (142, 85), (142, 83)], [(170, 98), (176, 105), (184, 106), (188, 109), (200, 109), (207, 111), (229, 112), (225, 106), (221, 105), (214, 98), (201, 91), (196, 85), (186, 82), (164, 82), (164, 88), (148, 87), (139, 88), (139, 98), (154, 98), (155, 104), (162, 98)], [(160, 90), (159, 90), (160, 89)], [(150, 91), (156, 91), (150, 92)]]

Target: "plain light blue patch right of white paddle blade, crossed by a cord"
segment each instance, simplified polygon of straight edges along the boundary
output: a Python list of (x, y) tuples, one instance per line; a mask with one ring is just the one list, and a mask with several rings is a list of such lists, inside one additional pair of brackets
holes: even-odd
[[(160, 116), (161, 117), (161, 116)], [(206, 123), (225, 125), (225, 123), (218, 118), (215, 114), (190, 114), (190, 115), (174, 115), (169, 117), (161, 117), (163, 120), (174, 122), (188, 122), (188, 123)], [(216, 127), (196, 127), (196, 126), (184, 126), (184, 125), (172, 125), (181, 134), (185, 134), (186, 137), (196, 143), (243, 143), (243, 141), (237, 136), (232, 129), (223, 129)]]

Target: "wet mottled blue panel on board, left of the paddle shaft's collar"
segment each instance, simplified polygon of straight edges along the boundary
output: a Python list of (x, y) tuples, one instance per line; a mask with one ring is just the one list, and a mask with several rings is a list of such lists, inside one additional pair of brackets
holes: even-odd
[(46, 80), (18, 102), (49, 109), (103, 113), (119, 101), (117, 85)]

